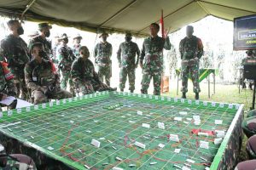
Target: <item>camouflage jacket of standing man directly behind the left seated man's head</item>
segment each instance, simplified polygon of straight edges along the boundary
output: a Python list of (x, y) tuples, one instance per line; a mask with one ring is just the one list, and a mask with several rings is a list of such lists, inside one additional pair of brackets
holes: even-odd
[(52, 48), (51, 48), (51, 42), (49, 42), (49, 40), (47, 40), (46, 38), (43, 38), (42, 36), (36, 36), (36, 37), (33, 37), (30, 42), (28, 43), (28, 48), (31, 50), (32, 48), (32, 44), (35, 43), (35, 42), (40, 42), (43, 44), (44, 46), (44, 51), (45, 53), (47, 54), (47, 56), (45, 56), (44, 59), (51, 59), (53, 58), (53, 51), (52, 51)]

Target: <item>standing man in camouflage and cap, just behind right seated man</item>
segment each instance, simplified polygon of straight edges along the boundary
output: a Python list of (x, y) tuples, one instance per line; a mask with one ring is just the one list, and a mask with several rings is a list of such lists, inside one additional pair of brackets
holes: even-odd
[(100, 38), (102, 37), (102, 42), (96, 44), (94, 49), (94, 57), (96, 58), (96, 65), (98, 66), (98, 74), (100, 80), (105, 81), (110, 86), (110, 77), (112, 77), (112, 45), (107, 42), (108, 33), (103, 32)]

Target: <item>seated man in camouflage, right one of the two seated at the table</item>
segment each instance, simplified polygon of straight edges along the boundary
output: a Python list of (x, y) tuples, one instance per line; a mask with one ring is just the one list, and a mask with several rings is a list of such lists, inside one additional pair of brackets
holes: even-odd
[(87, 47), (79, 48), (79, 58), (72, 65), (72, 80), (75, 84), (76, 91), (79, 94), (92, 94), (96, 91), (116, 90), (110, 88), (107, 84), (100, 81), (93, 63), (90, 61), (90, 53)]

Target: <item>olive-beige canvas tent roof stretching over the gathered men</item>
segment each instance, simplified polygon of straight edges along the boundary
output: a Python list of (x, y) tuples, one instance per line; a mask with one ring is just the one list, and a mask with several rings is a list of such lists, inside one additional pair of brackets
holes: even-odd
[(1, 0), (0, 14), (11, 18), (48, 21), (84, 31), (131, 31), (146, 36), (148, 26), (159, 22), (177, 31), (191, 22), (213, 15), (224, 20), (256, 14), (255, 0)]

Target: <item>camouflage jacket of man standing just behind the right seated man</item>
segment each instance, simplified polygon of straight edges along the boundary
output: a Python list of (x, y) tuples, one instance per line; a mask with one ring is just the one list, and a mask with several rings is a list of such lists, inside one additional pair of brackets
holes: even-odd
[(99, 66), (111, 65), (112, 45), (109, 42), (99, 42), (94, 49), (96, 64)]

